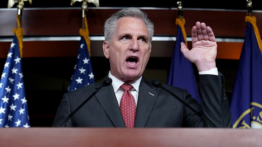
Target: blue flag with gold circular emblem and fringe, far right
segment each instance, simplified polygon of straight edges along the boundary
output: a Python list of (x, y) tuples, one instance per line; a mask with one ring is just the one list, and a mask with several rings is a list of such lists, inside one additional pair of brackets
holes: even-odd
[(245, 41), (232, 89), (233, 128), (262, 128), (262, 53), (256, 18), (246, 16)]

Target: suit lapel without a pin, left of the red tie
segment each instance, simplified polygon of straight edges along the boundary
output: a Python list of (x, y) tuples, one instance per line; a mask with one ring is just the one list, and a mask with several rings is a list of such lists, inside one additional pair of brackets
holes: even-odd
[(116, 100), (116, 95), (114, 94), (113, 86), (102, 87), (95, 96), (114, 125), (116, 127), (126, 127)]

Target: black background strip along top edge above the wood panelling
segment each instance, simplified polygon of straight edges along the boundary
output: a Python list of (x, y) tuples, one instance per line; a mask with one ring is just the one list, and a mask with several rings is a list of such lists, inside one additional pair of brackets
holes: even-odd
[[(176, 8), (177, 1), (122, 1), (122, 0), (100, 0), (100, 7), (159, 7), (159, 8)], [(181, 0), (183, 8), (213, 8), (213, 9), (233, 9), (233, 10), (246, 10), (246, 0)], [(0, 8), (7, 8), (8, 0), (0, 2)], [(25, 8), (51, 8), (51, 7), (81, 7), (82, 2), (75, 2), (70, 5), (71, 0), (32, 0), (25, 1)], [(253, 10), (262, 10), (261, 0), (252, 0)], [(95, 7), (93, 3), (88, 3), (88, 7)], [(15, 6), (13, 6), (15, 8)]]

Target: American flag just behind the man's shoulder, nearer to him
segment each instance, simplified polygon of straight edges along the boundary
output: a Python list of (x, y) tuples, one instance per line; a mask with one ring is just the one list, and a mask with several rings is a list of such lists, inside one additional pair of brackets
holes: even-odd
[(68, 92), (92, 83), (95, 83), (92, 64), (86, 41), (84, 37), (81, 36), (75, 70), (68, 87)]

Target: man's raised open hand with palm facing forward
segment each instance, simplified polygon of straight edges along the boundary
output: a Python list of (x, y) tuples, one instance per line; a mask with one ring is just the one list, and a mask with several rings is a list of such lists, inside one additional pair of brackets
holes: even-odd
[(217, 42), (215, 35), (205, 23), (196, 22), (192, 27), (192, 49), (181, 42), (181, 52), (190, 62), (196, 64), (198, 71), (208, 71), (216, 67)]

